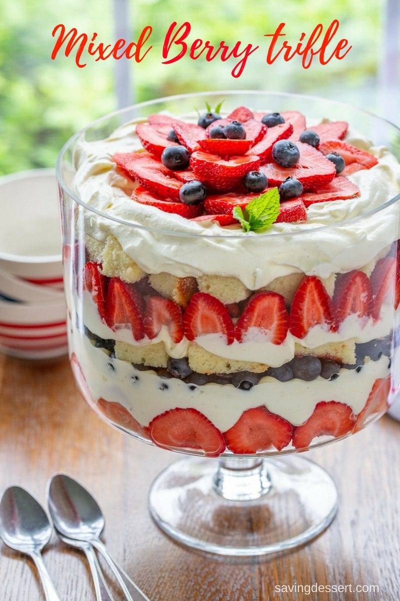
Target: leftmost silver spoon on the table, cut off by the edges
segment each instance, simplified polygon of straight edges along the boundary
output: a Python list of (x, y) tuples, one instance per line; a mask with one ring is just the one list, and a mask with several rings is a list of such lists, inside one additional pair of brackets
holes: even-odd
[(41, 556), (52, 537), (52, 526), (43, 507), (20, 486), (5, 490), (0, 501), (0, 537), (11, 549), (34, 560), (46, 600), (61, 601)]

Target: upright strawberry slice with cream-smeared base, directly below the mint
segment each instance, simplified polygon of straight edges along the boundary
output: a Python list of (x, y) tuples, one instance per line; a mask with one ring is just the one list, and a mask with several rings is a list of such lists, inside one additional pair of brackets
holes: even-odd
[(288, 323), (284, 297), (276, 292), (259, 292), (246, 305), (234, 335), (239, 342), (265, 340), (281, 344), (286, 338)]

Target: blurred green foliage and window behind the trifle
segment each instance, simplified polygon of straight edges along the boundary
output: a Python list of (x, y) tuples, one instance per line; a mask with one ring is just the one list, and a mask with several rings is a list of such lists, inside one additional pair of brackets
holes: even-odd
[[(384, 3), (383, 3), (384, 4)], [(136, 40), (145, 25), (154, 28), (154, 49), (145, 60), (128, 61), (132, 79), (128, 103), (168, 94), (198, 90), (260, 89), (320, 94), (377, 110), (380, 45), (384, 37), (383, 4), (377, 0), (136, 0), (129, 4), (128, 31)], [(116, 91), (116, 64), (94, 62), (78, 69), (72, 56), (61, 53), (52, 61), (52, 30), (64, 23), (67, 30), (98, 33), (98, 40), (115, 39), (115, 11), (124, 22), (123, 0), (19, 0), (0, 7), (0, 174), (32, 167), (53, 166), (65, 141), (95, 118), (121, 105)], [(347, 58), (327, 66), (302, 69), (299, 59), (267, 66), (267, 38), (280, 22), (287, 23), (288, 41), (297, 42), (302, 31), (317, 23), (339, 19), (336, 37), (353, 45)], [(190, 21), (190, 39), (200, 37), (217, 46), (225, 40), (259, 44), (239, 79), (231, 76), (234, 59), (182, 59), (161, 64), (161, 45), (173, 20)], [(119, 69), (123, 69), (122, 64)], [(123, 76), (123, 73), (122, 73)], [(119, 75), (121, 78), (121, 73)], [(120, 84), (121, 85), (121, 84)], [(123, 85), (123, 84), (122, 84)], [(128, 81), (127, 81), (128, 85)]]

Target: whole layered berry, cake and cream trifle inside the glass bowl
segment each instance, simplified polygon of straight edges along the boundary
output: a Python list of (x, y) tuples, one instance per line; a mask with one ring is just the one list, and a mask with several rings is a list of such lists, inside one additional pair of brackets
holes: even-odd
[(207, 106), (81, 136), (74, 166), (72, 364), (105, 418), (218, 456), (302, 450), (385, 412), (387, 148), (345, 121)]

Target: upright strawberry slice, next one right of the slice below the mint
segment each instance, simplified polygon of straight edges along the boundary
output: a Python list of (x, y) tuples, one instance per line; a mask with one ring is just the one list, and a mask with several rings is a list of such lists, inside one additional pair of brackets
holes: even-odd
[(308, 275), (294, 294), (290, 310), (289, 330), (296, 338), (304, 338), (314, 326), (334, 330), (332, 302), (320, 279)]

